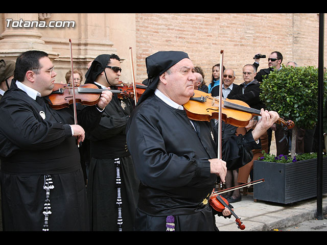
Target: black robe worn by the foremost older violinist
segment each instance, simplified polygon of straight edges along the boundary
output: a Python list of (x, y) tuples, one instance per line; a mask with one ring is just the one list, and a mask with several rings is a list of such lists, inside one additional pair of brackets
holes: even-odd
[[(127, 126), (127, 145), (139, 180), (136, 230), (166, 230), (174, 216), (175, 229), (216, 230), (208, 205), (217, 176), (208, 159), (217, 158), (217, 144), (207, 121), (193, 121), (156, 95), (138, 105)], [(223, 143), (223, 159), (236, 169), (252, 159), (258, 145), (251, 134)], [(259, 144), (260, 145), (260, 144)]]

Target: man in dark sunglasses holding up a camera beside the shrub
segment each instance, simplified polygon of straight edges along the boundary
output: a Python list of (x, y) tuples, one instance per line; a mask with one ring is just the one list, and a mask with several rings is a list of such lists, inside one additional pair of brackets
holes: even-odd
[[(258, 70), (259, 67), (259, 59), (254, 59), (253, 65)], [(283, 62), (283, 55), (279, 53), (278, 51), (274, 51), (269, 55), (268, 58), (268, 66), (269, 68), (261, 69), (255, 76), (255, 79), (258, 80), (258, 82), (262, 82), (262, 80), (267, 76), (270, 71), (272, 70), (279, 70), (282, 68), (282, 62)]]

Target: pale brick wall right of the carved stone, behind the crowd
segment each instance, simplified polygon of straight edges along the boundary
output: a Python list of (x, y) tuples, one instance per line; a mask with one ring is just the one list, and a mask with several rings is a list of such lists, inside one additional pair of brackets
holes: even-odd
[[(295, 61), (299, 66), (318, 66), (318, 30), (315, 13), (136, 14), (135, 76), (137, 81), (146, 79), (145, 58), (165, 50), (188, 53), (193, 64), (204, 70), (207, 84), (212, 66), (219, 63), (220, 50), (224, 50), (225, 67), (235, 70), (237, 84), (243, 82), (243, 65), (253, 63), (257, 53), (268, 58), (279, 51), (283, 64)], [(267, 58), (261, 60), (259, 69), (268, 67)]]

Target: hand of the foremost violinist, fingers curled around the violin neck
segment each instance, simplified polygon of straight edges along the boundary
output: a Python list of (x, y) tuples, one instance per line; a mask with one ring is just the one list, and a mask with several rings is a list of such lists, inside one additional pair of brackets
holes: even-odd
[(261, 119), (256, 124), (252, 131), (254, 140), (258, 140), (279, 118), (279, 115), (275, 111), (267, 111), (261, 109)]

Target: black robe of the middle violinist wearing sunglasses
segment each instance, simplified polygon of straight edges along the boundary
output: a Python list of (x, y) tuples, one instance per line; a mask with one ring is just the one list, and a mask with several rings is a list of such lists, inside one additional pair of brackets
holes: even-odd
[[(87, 134), (91, 156), (87, 195), (92, 231), (132, 231), (134, 228), (139, 181), (126, 144), (126, 124), (132, 110), (133, 101), (113, 94), (99, 125)], [(116, 184), (118, 166), (120, 184)], [(116, 204), (118, 187), (120, 205)], [(119, 208), (122, 217), (119, 217)], [(122, 225), (119, 225), (121, 218)]]

